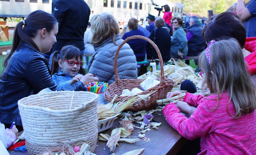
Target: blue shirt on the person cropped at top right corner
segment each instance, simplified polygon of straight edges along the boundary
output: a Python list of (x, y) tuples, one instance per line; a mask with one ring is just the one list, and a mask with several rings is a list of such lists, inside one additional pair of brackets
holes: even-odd
[(244, 21), (246, 37), (256, 37), (256, 0), (251, 0), (246, 7), (252, 16), (248, 20)]

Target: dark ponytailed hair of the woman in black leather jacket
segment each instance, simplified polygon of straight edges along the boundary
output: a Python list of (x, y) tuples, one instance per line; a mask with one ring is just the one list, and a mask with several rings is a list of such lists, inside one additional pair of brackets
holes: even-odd
[(17, 49), (21, 48), (24, 43), (29, 44), (37, 51), (41, 52), (31, 38), (35, 37), (40, 29), (45, 28), (47, 32), (52, 31), (54, 24), (57, 24), (55, 17), (42, 10), (31, 12), (25, 20), (19, 22), (14, 29), (12, 49), (9, 55), (3, 61), (3, 67), (7, 65), (7, 61), (10, 59), (13, 53)]

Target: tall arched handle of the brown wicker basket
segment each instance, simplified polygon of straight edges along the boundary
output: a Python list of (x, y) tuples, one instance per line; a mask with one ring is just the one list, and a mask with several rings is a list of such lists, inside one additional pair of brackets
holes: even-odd
[(160, 78), (160, 83), (164, 83), (165, 84), (165, 81), (164, 81), (164, 67), (163, 67), (163, 58), (162, 58), (162, 55), (158, 49), (158, 47), (156, 46), (156, 44), (150, 40), (149, 38), (147, 37), (144, 37), (144, 36), (131, 36), (131, 37), (127, 37), (123, 43), (121, 43), (116, 51), (116, 55), (115, 55), (115, 59), (114, 59), (114, 72), (115, 72), (115, 81), (118, 82), (118, 86), (120, 86), (120, 79), (119, 79), (119, 76), (118, 76), (118, 71), (117, 71), (117, 58), (118, 58), (118, 55), (119, 55), (119, 51), (120, 49), (122, 48), (122, 46), (127, 43), (128, 41), (130, 41), (131, 39), (143, 39), (145, 41), (148, 41), (153, 47), (154, 49), (156, 49), (156, 53), (158, 55), (158, 58), (159, 58), (159, 63), (161, 65), (161, 78)]

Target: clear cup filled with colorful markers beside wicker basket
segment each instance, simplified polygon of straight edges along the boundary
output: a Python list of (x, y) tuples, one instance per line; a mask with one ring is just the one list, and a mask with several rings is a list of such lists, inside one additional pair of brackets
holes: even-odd
[(104, 91), (107, 89), (109, 83), (104, 82), (90, 82), (85, 85), (85, 88), (88, 92), (93, 92), (99, 95), (99, 104), (107, 104), (107, 101), (104, 99)]

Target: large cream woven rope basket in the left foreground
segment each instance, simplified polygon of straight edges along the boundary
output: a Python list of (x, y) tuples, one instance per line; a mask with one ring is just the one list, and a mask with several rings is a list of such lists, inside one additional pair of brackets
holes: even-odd
[[(72, 106), (70, 108), (73, 96)], [(99, 95), (92, 92), (60, 91), (31, 95), (18, 101), (29, 155), (64, 143), (96, 147)]]

